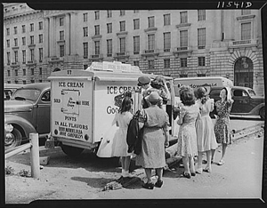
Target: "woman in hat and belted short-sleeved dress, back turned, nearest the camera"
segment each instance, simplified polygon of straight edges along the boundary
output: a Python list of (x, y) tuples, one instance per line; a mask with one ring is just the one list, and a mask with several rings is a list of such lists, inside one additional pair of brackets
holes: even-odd
[[(136, 156), (136, 165), (141, 165), (148, 178), (142, 187), (153, 189), (162, 187), (163, 168), (166, 165), (165, 148), (169, 145), (169, 118), (166, 111), (158, 107), (161, 98), (158, 92), (151, 92), (150, 107), (140, 113), (140, 127), (143, 128), (141, 154)], [(158, 181), (153, 184), (151, 171), (156, 169)]]

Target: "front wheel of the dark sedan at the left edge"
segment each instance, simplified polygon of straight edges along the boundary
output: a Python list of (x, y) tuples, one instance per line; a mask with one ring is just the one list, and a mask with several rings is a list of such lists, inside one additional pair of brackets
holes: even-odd
[(22, 134), (20, 130), (13, 128), (12, 132), (6, 132), (4, 139), (4, 148), (10, 149), (20, 146), (22, 140)]

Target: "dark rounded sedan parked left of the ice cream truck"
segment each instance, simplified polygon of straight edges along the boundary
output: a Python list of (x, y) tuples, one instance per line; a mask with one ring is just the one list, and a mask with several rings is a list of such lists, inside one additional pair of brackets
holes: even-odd
[(28, 141), (31, 132), (38, 132), (39, 138), (50, 132), (50, 87), (50, 83), (25, 84), (4, 101), (4, 126), (9, 127), (5, 148)]

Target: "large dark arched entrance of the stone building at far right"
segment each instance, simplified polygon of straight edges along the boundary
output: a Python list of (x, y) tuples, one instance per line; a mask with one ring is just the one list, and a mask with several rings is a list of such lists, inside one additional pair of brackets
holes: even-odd
[(247, 57), (240, 57), (234, 66), (234, 85), (253, 88), (253, 62)]

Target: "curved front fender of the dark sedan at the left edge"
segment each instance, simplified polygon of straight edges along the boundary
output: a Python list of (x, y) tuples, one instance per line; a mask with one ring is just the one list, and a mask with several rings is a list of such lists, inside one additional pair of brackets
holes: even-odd
[(29, 137), (29, 133), (36, 132), (35, 127), (28, 122), (28, 120), (15, 115), (4, 115), (4, 124), (19, 125), (25, 133), (25, 137)]

